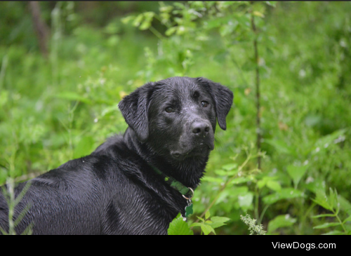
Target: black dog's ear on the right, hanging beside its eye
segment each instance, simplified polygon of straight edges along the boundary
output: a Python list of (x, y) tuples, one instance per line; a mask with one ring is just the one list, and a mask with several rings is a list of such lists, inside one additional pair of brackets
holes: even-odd
[(227, 87), (222, 86), (220, 83), (215, 83), (209, 79), (205, 79), (204, 77), (198, 77), (196, 80), (199, 85), (204, 86), (204, 88), (213, 98), (213, 101), (216, 105), (215, 108), (218, 125), (223, 130), (226, 130), (227, 123), (225, 121), (225, 118), (227, 117), (227, 114), (232, 107), (234, 97), (232, 91)]

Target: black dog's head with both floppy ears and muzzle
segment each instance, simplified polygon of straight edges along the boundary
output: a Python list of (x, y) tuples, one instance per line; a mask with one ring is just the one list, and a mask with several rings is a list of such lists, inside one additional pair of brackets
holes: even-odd
[(150, 82), (119, 102), (138, 140), (173, 160), (208, 156), (216, 120), (223, 130), (233, 93), (204, 78), (172, 77)]

